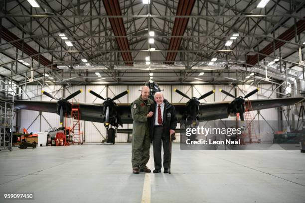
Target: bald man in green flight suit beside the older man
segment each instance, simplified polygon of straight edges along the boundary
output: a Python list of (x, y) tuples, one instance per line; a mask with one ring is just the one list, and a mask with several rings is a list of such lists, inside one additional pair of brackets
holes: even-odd
[(153, 112), (149, 112), (153, 101), (149, 99), (150, 88), (143, 86), (141, 96), (131, 104), (133, 122), (132, 138), (132, 164), (133, 173), (151, 173), (146, 166), (150, 159), (151, 137), (147, 118), (152, 117)]

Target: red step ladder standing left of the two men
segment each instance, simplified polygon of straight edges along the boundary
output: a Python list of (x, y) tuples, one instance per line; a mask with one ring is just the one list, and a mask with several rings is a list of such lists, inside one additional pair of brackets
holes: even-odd
[(71, 132), (73, 133), (73, 144), (83, 144), (83, 133), (81, 132), (81, 122), (80, 122), (80, 111), (79, 103), (71, 103), (71, 118), (72, 118), (72, 127)]

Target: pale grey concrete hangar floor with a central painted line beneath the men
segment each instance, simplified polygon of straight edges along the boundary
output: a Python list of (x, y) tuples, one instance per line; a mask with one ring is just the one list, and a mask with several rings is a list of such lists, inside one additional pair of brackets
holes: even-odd
[[(299, 149), (181, 151), (175, 144), (172, 154), (171, 175), (136, 175), (131, 144), (1, 151), (0, 202), (20, 203), (3, 193), (34, 192), (26, 202), (305, 203)], [(153, 169), (153, 158), (149, 164)]]

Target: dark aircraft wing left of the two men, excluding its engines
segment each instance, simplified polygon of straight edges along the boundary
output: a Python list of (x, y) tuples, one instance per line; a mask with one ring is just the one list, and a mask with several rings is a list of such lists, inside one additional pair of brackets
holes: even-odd
[[(57, 102), (40, 102), (40, 101), (26, 101), (15, 100), (14, 107), (26, 110), (37, 110), (43, 112), (57, 113)], [(81, 120), (103, 122), (105, 115), (103, 113), (102, 103), (80, 103)], [(121, 114), (123, 123), (132, 123), (130, 104), (118, 104), (118, 110)]]

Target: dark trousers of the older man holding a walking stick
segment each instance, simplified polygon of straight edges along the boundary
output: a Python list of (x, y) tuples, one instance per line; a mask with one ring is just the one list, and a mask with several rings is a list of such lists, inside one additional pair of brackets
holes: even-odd
[(165, 137), (163, 134), (163, 127), (154, 126), (153, 127), (153, 160), (154, 160), (154, 169), (162, 168), (162, 159), (161, 159), (161, 141), (163, 142), (163, 167), (168, 169), (169, 165), (169, 137)]

